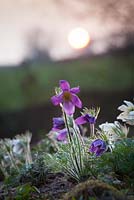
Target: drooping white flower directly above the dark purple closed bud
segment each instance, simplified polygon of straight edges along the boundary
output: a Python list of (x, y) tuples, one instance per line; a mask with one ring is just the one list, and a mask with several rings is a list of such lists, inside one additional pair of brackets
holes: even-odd
[(118, 121), (114, 123), (103, 123), (100, 129), (107, 136), (110, 142), (115, 142), (121, 138), (126, 138), (129, 129), (126, 126), (122, 126)]

